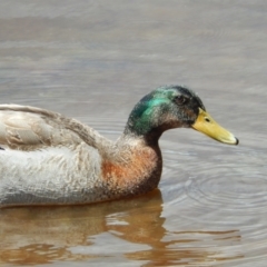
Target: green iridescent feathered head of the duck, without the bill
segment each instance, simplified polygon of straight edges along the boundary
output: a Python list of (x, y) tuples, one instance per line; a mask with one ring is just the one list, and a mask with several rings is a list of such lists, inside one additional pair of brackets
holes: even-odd
[(126, 131), (138, 136), (151, 131), (161, 135), (171, 128), (190, 127), (199, 108), (205, 110), (200, 98), (191, 90), (181, 86), (160, 87), (136, 105)]

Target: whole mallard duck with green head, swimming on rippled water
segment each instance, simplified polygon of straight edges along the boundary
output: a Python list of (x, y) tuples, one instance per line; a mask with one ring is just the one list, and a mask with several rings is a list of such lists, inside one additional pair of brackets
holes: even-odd
[(0, 207), (83, 205), (152, 191), (162, 172), (159, 138), (181, 127), (239, 142), (185, 86), (141, 98), (116, 141), (58, 112), (0, 105)]

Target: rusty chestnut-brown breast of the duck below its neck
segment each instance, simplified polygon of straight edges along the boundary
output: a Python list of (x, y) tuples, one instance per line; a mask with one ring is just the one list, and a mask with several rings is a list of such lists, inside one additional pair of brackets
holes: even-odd
[(161, 175), (160, 151), (154, 148), (130, 148), (102, 161), (102, 179), (110, 192), (132, 196), (157, 187)]

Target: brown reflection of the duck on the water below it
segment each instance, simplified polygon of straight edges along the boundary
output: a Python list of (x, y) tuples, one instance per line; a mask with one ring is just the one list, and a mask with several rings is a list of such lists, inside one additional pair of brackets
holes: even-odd
[[(201, 239), (240, 241), (238, 231), (167, 231), (160, 190), (119, 201), (76, 207), (28, 207), (0, 210), (0, 264), (99, 261), (121, 255), (142, 266), (170, 266), (208, 259), (233, 259), (204, 249)], [(166, 237), (171, 239), (166, 241)], [(199, 241), (197, 246), (196, 241)], [(196, 243), (195, 246), (185, 244)], [(184, 246), (181, 246), (184, 244)], [(106, 259), (107, 260), (107, 259)]]

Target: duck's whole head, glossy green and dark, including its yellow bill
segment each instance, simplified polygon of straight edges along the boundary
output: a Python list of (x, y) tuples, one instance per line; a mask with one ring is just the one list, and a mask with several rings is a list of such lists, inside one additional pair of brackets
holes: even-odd
[(238, 139), (206, 111), (201, 99), (181, 86), (160, 87), (145, 96), (131, 111), (125, 135), (158, 139), (172, 128), (194, 128), (217, 141), (238, 145)]

